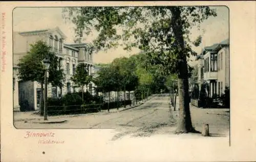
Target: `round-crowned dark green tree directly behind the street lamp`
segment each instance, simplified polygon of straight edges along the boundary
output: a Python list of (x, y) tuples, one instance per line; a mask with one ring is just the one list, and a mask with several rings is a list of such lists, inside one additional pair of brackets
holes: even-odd
[(43, 103), (43, 85), (45, 82), (45, 69), (42, 65), (42, 60), (49, 58), (50, 68), (49, 68), (49, 83), (52, 86), (62, 87), (63, 80), (65, 80), (65, 75), (63, 70), (58, 68), (57, 57), (51, 47), (47, 45), (44, 41), (37, 41), (35, 44), (30, 44), (31, 49), (28, 54), (21, 58), (18, 63), (18, 78), (22, 81), (36, 81), (41, 85), (41, 109), (40, 114), (44, 113)]

